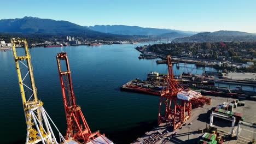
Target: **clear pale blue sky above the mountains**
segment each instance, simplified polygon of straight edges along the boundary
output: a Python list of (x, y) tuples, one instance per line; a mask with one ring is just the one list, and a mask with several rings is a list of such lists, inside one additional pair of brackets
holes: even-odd
[(82, 26), (129, 25), (256, 33), (254, 0), (1, 1), (0, 19), (24, 16), (66, 20)]

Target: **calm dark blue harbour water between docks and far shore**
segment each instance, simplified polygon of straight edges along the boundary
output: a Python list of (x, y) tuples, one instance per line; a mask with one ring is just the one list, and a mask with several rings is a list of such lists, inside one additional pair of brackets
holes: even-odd
[[(149, 71), (167, 73), (166, 65), (157, 65), (155, 59), (139, 60), (134, 49), (139, 45), (144, 44), (30, 49), (38, 98), (63, 135), (66, 119), (55, 58), (61, 51), (68, 53), (75, 97), (92, 131), (100, 129), (115, 143), (129, 143), (152, 129), (159, 97), (119, 91), (131, 79), (146, 79)], [(26, 124), (12, 51), (0, 51), (0, 62), (1, 143), (21, 143)], [(182, 72), (183, 68), (174, 67), (174, 74)], [(193, 73), (201, 74), (202, 68)]]

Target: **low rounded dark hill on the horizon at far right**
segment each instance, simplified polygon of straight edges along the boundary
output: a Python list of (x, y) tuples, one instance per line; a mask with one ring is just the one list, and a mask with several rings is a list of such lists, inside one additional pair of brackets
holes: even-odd
[(193, 42), (217, 42), (217, 41), (256, 41), (256, 34), (238, 31), (217, 31), (203, 32), (191, 35), (186, 38), (174, 39), (174, 43), (193, 43)]

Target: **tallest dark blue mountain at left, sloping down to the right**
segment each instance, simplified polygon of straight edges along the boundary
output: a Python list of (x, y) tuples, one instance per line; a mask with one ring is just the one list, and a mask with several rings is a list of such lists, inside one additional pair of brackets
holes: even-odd
[(14, 34), (50, 34), (50, 35), (83, 35), (84, 37), (126, 37), (93, 31), (68, 21), (40, 19), (25, 16), (21, 19), (0, 20), (0, 33)]

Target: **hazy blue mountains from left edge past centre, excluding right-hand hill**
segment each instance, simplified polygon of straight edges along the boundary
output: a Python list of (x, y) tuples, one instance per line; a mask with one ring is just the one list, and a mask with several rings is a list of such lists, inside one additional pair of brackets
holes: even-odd
[[(109, 29), (109, 31), (106, 31)], [(83, 35), (89, 38), (102, 37), (124, 37), (132, 38), (131, 35), (161, 35), (170, 38), (182, 38), (192, 35), (182, 31), (159, 28), (142, 28), (131, 26), (79, 26), (68, 21), (56, 21), (51, 19), (40, 19), (38, 17), (25, 16), (21, 19), (0, 20), (0, 33), (15, 34), (51, 34), (51, 35)], [(170, 35), (173, 33), (173, 35)], [(193, 33), (193, 32), (192, 32)]]

